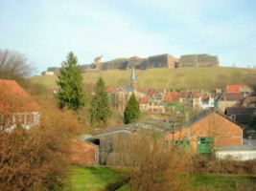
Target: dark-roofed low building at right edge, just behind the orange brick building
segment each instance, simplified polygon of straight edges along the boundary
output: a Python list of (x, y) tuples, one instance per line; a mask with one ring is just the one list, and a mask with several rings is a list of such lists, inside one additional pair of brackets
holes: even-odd
[(228, 107), (225, 109), (224, 114), (231, 120), (246, 125), (249, 121), (249, 118), (256, 111), (256, 107)]

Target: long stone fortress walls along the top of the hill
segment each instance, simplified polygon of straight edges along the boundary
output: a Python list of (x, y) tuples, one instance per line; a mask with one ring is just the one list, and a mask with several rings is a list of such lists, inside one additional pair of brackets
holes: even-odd
[[(148, 58), (133, 56), (130, 58), (117, 58), (111, 61), (103, 61), (103, 55), (96, 57), (91, 64), (81, 65), (81, 72), (99, 72), (106, 70), (128, 70), (134, 67), (137, 70), (147, 70), (151, 68), (175, 69), (180, 67), (219, 67), (217, 55), (187, 54), (175, 58), (173, 55), (165, 53), (152, 55)], [(42, 75), (57, 75), (59, 67), (50, 67)]]

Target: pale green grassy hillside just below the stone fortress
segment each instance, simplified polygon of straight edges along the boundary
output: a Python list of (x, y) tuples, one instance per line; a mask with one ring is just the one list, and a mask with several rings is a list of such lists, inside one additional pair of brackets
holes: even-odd
[[(125, 85), (129, 83), (131, 70), (104, 71), (101, 73), (85, 73), (83, 81), (95, 83), (100, 76), (106, 85)], [(212, 68), (178, 68), (149, 69), (135, 71), (139, 88), (160, 89), (215, 89), (224, 88), (226, 84), (246, 84), (256, 76), (256, 70), (231, 67)], [(56, 86), (57, 76), (34, 76), (32, 80), (49, 88)]]

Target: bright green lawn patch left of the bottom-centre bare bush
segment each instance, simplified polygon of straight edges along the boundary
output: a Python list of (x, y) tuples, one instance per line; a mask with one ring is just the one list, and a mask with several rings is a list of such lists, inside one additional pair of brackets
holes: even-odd
[(106, 185), (122, 178), (121, 174), (108, 167), (85, 167), (72, 165), (70, 177), (67, 180), (64, 191), (99, 191)]

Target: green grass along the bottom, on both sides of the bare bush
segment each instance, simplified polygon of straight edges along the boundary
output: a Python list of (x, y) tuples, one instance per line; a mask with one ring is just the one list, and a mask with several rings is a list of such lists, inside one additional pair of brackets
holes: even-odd
[[(65, 191), (101, 191), (106, 186), (122, 180), (124, 172), (102, 166), (85, 167), (72, 165), (70, 177), (67, 180)], [(189, 190), (256, 190), (256, 176), (247, 175), (206, 175), (192, 174)], [(118, 191), (128, 191), (129, 186), (125, 184)]]

